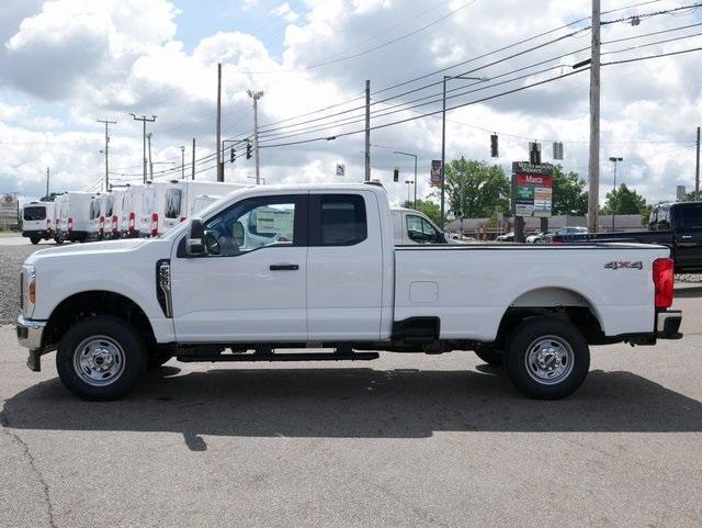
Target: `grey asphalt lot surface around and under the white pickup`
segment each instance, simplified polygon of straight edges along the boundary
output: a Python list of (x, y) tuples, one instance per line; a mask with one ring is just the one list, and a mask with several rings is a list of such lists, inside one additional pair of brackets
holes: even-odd
[(596, 347), (558, 402), (453, 352), (170, 361), (87, 403), (7, 324), (27, 245), (0, 241), (0, 526), (702, 526), (702, 285), (681, 341)]

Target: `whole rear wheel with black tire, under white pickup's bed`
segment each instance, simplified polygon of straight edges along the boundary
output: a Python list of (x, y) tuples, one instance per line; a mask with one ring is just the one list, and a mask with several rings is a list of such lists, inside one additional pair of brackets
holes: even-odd
[(512, 383), (526, 396), (558, 400), (573, 394), (585, 381), (590, 369), (590, 349), (580, 330), (570, 323), (533, 317), (508, 337), (505, 362)]

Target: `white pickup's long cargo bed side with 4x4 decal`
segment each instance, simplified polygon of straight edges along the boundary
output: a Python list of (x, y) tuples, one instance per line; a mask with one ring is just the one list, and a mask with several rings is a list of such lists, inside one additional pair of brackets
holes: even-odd
[(607, 336), (652, 332), (653, 261), (668, 255), (643, 244), (399, 246), (394, 319), (440, 317), (442, 339), (491, 341), (509, 307), (555, 300), (589, 307)]

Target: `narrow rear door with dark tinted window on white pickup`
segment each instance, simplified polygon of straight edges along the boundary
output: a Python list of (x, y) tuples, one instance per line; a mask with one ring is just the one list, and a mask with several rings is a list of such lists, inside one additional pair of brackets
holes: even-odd
[(309, 340), (377, 339), (383, 239), (376, 198), (370, 192), (330, 191), (313, 193), (309, 200)]

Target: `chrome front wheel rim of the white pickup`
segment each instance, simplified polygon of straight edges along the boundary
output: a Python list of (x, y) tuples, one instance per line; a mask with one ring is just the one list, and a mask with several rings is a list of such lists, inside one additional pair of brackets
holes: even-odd
[(73, 351), (76, 373), (92, 386), (105, 386), (118, 380), (124, 372), (124, 360), (120, 344), (107, 336), (83, 339)]

